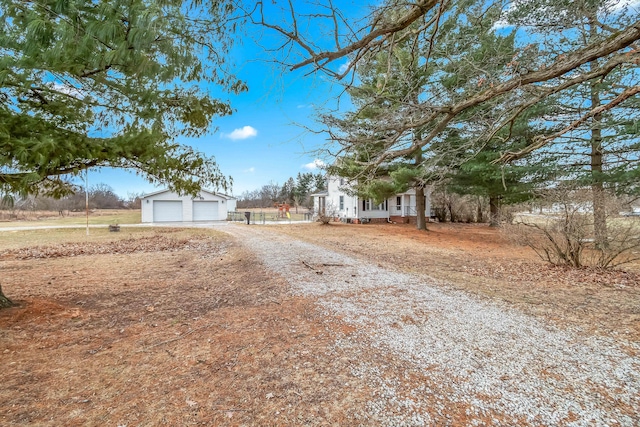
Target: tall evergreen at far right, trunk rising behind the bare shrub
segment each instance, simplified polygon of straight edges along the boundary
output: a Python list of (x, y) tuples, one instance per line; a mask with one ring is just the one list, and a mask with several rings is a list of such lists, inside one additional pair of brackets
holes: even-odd
[[(635, 17), (629, 10), (612, 9), (609, 2), (544, 0), (523, 4), (507, 20), (526, 26), (546, 57), (567, 55), (577, 45), (602, 43), (614, 37)], [(637, 53), (637, 52), (636, 52)], [(631, 59), (632, 53), (626, 55)], [(597, 71), (607, 68), (605, 74)], [(593, 59), (577, 73), (584, 78), (556, 96), (556, 114), (545, 119), (557, 132), (534, 149), (561, 157), (566, 179), (591, 188), (594, 237), (598, 247), (608, 245), (606, 199), (610, 192), (633, 194), (640, 177), (640, 93), (637, 59)], [(561, 154), (561, 156), (558, 156)]]

